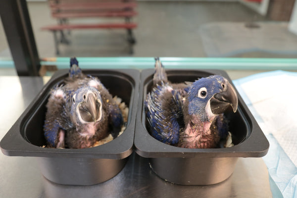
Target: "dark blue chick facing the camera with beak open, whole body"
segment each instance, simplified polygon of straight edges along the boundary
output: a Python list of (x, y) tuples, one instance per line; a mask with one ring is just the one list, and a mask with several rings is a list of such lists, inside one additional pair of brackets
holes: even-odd
[(110, 133), (117, 137), (121, 110), (97, 77), (86, 76), (71, 58), (69, 77), (51, 90), (44, 124), (50, 148), (89, 148)]

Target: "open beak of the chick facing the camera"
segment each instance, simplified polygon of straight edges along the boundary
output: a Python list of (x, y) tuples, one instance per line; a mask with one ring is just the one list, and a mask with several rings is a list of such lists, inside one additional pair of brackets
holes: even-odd
[(95, 99), (93, 93), (88, 93), (85, 102), (79, 106), (79, 113), (85, 122), (96, 122), (100, 118), (101, 103)]

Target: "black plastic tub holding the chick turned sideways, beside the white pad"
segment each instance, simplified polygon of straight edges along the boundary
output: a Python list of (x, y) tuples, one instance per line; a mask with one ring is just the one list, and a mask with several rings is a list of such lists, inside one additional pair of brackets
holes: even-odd
[[(152, 88), (153, 72), (149, 69), (141, 73), (134, 145), (139, 155), (149, 158), (151, 169), (159, 177), (181, 185), (216, 184), (231, 176), (238, 157), (261, 157), (268, 152), (269, 143), (238, 92), (237, 112), (227, 113), (235, 146), (179, 148), (154, 139), (148, 132), (144, 109), (144, 100)], [(221, 70), (166, 70), (166, 73), (172, 83), (194, 82), (198, 78), (218, 74), (232, 84), (227, 73)]]

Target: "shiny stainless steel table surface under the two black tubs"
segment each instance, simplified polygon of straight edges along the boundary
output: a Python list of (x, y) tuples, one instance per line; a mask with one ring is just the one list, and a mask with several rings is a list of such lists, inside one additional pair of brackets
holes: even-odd
[[(49, 78), (0, 76), (0, 139)], [(271, 198), (267, 168), (261, 158), (240, 158), (226, 181), (210, 186), (181, 186), (163, 181), (148, 159), (133, 153), (114, 178), (93, 186), (50, 182), (34, 157), (0, 153), (0, 198)]]

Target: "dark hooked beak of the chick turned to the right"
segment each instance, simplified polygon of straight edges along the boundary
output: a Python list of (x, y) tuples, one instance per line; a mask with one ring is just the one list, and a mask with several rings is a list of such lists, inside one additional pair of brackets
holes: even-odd
[(224, 91), (215, 94), (210, 99), (210, 109), (213, 114), (221, 114), (231, 106), (233, 111), (236, 112), (238, 106), (238, 98), (233, 86), (227, 82)]

